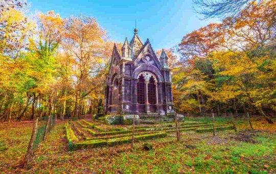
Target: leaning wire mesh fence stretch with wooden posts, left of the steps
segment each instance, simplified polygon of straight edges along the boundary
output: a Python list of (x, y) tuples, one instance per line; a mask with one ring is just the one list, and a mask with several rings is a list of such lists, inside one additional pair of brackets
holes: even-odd
[(39, 144), (45, 140), (48, 133), (54, 128), (56, 124), (55, 117), (53, 115), (44, 118), (36, 118), (34, 119), (34, 126), (32, 130), (31, 139), (29, 141), (27, 154), (24, 159), (23, 167), (26, 168), (28, 163), (32, 159), (34, 155), (35, 149), (39, 146)]

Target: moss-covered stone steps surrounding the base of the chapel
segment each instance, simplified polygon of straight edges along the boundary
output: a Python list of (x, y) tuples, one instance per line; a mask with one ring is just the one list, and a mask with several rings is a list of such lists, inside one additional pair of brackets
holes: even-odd
[[(233, 127), (219, 125), (215, 129), (218, 131), (233, 129)], [(84, 119), (65, 123), (65, 130), (70, 150), (130, 143), (132, 137), (132, 126), (105, 125), (98, 121), (87, 121)], [(174, 121), (139, 124), (135, 126), (134, 138), (135, 141), (163, 138), (175, 131)], [(180, 123), (180, 131), (212, 132), (213, 126), (207, 122), (186, 121)]]

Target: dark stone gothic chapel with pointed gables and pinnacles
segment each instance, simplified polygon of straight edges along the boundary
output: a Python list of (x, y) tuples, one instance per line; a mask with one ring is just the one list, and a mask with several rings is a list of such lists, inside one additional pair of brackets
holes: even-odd
[(119, 54), (113, 47), (106, 78), (106, 114), (158, 114), (173, 111), (171, 74), (165, 51), (159, 58), (149, 39), (143, 44), (134, 29), (134, 36), (127, 38)]

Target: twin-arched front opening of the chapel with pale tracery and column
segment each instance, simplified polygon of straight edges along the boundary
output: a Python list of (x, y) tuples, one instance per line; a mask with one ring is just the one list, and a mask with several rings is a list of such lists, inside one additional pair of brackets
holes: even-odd
[(156, 112), (158, 104), (157, 79), (150, 72), (142, 72), (137, 80), (137, 103), (140, 113)]

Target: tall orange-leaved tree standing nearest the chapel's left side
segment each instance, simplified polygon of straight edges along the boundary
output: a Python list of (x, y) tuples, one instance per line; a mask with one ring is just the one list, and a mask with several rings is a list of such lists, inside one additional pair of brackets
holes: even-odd
[[(66, 19), (63, 49), (73, 59), (74, 117), (80, 113), (80, 102), (101, 84), (105, 67), (105, 32), (95, 18), (79, 16)], [(96, 91), (95, 91), (96, 92)]]

